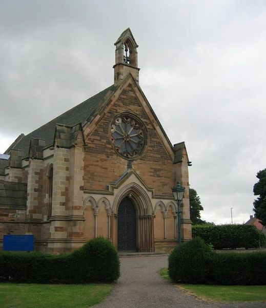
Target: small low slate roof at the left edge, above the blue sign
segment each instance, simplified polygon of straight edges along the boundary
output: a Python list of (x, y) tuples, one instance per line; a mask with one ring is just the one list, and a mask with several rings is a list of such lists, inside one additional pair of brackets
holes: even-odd
[(0, 181), (0, 207), (26, 207), (27, 184)]

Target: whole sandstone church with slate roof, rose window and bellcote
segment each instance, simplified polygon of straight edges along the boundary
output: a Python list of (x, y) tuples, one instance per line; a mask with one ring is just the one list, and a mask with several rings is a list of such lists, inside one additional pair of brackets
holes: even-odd
[(113, 85), (0, 155), (0, 249), (4, 235), (28, 234), (35, 250), (51, 253), (95, 237), (118, 251), (170, 251), (178, 243), (177, 181), (185, 187), (181, 241), (191, 239), (185, 143), (171, 144), (139, 86), (131, 30), (114, 45)]

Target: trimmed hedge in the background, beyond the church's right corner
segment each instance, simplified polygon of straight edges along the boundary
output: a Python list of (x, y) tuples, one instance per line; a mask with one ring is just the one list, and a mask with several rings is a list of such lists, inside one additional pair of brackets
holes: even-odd
[(214, 249), (259, 248), (265, 243), (265, 235), (260, 230), (245, 224), (194, 225), (192, 236), (202, 238)]

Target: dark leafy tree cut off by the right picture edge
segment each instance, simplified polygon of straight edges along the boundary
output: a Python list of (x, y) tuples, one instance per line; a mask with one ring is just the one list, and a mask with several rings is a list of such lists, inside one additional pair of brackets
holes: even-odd
[(253, 192), (259, 196), (254, 200), (254, 212), (263, 226), (266, 226), (266, 168), (257, 173), (259, 181), (254, 185)]

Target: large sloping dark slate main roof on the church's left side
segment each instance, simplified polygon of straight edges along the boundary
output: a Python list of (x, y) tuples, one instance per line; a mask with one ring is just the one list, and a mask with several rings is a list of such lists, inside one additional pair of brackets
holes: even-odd
[[(93, 97), (89, 98), (88, 100), (84, 101), (83, 103), (59, 115), (59, 117), (30, 132), (26, 136), (23, 136), (21, 139), (18, 140), (18, 142), (13, 146), (13, 148), (24, 150), (25, 156), (27, 156), (29, 152), (30, 140), (32, 138), (46, 141), (47, 146), (52, 145), (56, 124), (73, 126), (78, 123), (85, 124), (90, 122), (94, 118), (97, 109), (101, 106), (105, 95), (109, 91), (115, 91), (116, 88), (117, 86), (112, 85), (105, 90), (99, 92), (98, 94), (94, 95)], [(10, 150), (10, 148), (8, 150)]]

